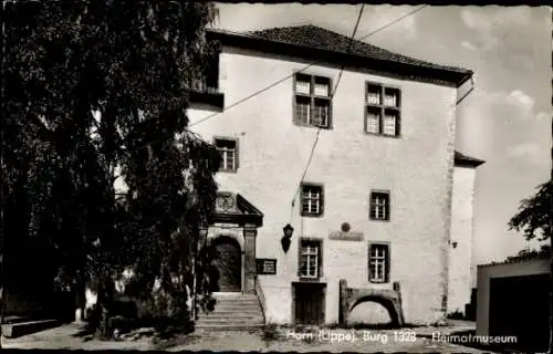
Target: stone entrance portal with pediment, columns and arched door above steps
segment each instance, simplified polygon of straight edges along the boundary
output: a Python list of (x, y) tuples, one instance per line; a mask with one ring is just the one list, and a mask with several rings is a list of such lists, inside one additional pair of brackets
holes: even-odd
[(218, 192), (216, 211), (204, 228), (213, 252), (213, 292), (254, 292), (255, 238), (263, 214), (239, 194)]

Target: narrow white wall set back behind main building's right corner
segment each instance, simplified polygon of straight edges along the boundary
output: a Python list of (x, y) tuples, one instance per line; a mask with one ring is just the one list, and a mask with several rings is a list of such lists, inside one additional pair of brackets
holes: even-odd
[[(449, 246), (448, 312), (465, 313), (472, 287), (473, 196), (476, 169), (455, 167)], [(453, 248), (453, 242), (457, 247)]]

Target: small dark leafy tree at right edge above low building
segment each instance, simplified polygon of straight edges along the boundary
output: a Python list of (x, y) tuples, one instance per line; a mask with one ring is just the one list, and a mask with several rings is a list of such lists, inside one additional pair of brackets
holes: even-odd
[[(553, 353), (553, 179), (540, 185), (536, 194), (522, 200), (519, 212), (509, 221), (509, 228), (522, 231), (526, 240), (550, 240), (538, 253), (550, 256), (550, 344)], [(528, 254), (526, 254), (528, 256)]]

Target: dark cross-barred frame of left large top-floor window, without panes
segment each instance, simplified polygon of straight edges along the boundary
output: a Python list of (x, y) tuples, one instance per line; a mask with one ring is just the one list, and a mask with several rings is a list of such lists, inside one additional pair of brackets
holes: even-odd
[[(298, 76), (306, 76), (310, 79), (310, 94), (304, 94), (304, 93), (299, 93), (295, 91), (295, 85), (298, 83)], [(327, 96), (320, 96), (315, 95), (315, 82), (317, 79), (322, 79), (328, 82), (328, 95)], [(303, 127), (313, 127), (313, 128), (321, 128), (321, 129), (332, 129), (333, 128), (333, 118), (332, 118), (332, 79), (330, 76), (324, 76), (324, 75), (316, 75), (313, 73), (300, 73), (295, 72), (293, 75), (293, 81), (292, 81), (292, 122), (298, 125), (298, 126), (303, 126)], [(298, 97), (303, 97), (303, 98), (309, 98), (310, 101), (310, 112), (309, 112), (309, 119), (310, 122), (313, 122), (314, 118), (314, 107), (315, 107), (315, 102), (317, 100), (324, 100), (327, 101), (328, 103), (328, 112), (326, 116), (326, 125), (321, 126), (321, 125), (315, 125), (313, 123), (303, 123), (301, 119), (296, 117), (296, 101)]]

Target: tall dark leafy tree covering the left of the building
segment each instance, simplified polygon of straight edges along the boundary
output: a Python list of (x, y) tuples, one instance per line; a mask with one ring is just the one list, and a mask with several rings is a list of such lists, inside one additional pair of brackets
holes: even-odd
[(144, 293), (161, 278), (181, 301), (171, 274), (201, 267), (219, 155), (187, 131), (186, 110), (217, 51), (205, 39), (216, 15), (180, 0), (4, 3), (3, 249), (18, 254), (6, 267), (39, 244), (48, 274), (81, 290), (97, 280), (104, 336), (125, 267)]

